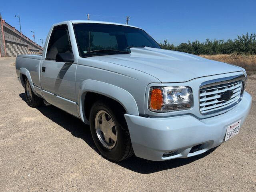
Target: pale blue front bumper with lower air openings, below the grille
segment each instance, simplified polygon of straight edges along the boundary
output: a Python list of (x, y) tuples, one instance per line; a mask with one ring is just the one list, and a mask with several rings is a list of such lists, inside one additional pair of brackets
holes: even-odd
[[(240, 119), (242, 125), (251, 104), (252, 97), (244, 92), (242, 100), (235, 108), (210, 118), (197, 119), (192, 115), (168, 118), (145, 118), (129, 114), (124, 116), (135, 155), (162, 161), (195, 156), (219, 146), (224, 142), (227, 126)], [(190, 152), (191, 148), (197, 145), (200, 145), (200, 148)], [(176, 152), (163, 156), (168, 151)]]

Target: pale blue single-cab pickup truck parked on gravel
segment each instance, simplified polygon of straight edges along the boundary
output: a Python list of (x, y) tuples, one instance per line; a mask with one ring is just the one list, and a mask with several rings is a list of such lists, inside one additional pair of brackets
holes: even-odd
[(239, 133), (252, 102), (243, 68), (162, 50), (144, 30), (110, 22), (54, 24), (42, 55), (19, 55), (16, 72), (29, 106), (45, 100), (90, 124), (116, 162), (206, 152)]

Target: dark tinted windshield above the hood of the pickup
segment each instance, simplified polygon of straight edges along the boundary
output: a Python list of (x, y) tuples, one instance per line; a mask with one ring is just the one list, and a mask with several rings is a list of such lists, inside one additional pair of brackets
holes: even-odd
[(144, 30), (129, 26), (78, 23), (74, 32), (81, 57), (127, 54), (131, 47), (160, 48)]

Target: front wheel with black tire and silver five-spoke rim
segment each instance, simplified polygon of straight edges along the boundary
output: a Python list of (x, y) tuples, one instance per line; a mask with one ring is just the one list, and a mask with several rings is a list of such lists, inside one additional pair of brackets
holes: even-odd
[[(107, 104), (104, 101), (97, 101), (92, 105), (90, 110), (90, 130), (96, 148), (102, 156), (114, 162), (119, 162), (129, 158), (134, 152), (124, 119), (124, 112), (115, 109), (113, 106), (114, 104), (111, 102)], [(108, 137), (110, 138), (108, 139)]]

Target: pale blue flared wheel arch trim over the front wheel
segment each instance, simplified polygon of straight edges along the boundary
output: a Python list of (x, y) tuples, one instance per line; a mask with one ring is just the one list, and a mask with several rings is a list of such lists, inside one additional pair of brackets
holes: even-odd
[(83, 122), (88, 123), (84, 115), (85, 114), (84, 98), (87, 92), (94, 92), (94, 93), (98, 93), (98, 94), (107, 96), (109, 98), (112, 98), (117, 102), (119, 102), (124, 107), (127, 114), (136, 115), (136, 116), (139, 115), (136, 101), (128, 91), (118, 86), (114, 86), (112, 84), (88, 79), (88, 80), (84, 80), (80, 84), (79, 91), (78, 91), (78, 101), (79, 101), (78, 113)]

